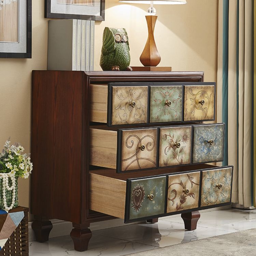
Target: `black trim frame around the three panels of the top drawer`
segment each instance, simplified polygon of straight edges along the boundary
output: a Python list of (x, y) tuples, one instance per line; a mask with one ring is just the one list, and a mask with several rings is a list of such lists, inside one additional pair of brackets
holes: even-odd
[[(174, 122), (157, 122), (157, 123), (150, 123), (150, 98), (151, 98), (151, 86), (179, 86), (182, 85), (182, 117), (181, 121), (174, 121)], [(184, 121), (184, 94), (185, 94), (185, 86), (187, 85), (213, 85), (214, 86), (214, 114), (213, 114), (213, 119), (203, 119), (203, 120), (186, 120)], [(112, 125), (112, 87), (113, 86), (118, 86), (118, 87), (133, 87), (133, 86), (147, 86), (147, 123), (141, 123), (141, 125), (145, 124), (151, 124), (151, 125), (167, 125), (167, 124), (172, 124), (172, 123), (195, 123), (195, 122), (202, 122), (202, 121), (214, 121), (215, 116), (216, 116), (216, 110), (215, 110), (215, 105), (216, 105), (216, 82), (142, 82), (142, 83), (137, 83), (137, 82), (127, 82), (127, 83), (108, 83), (108, 115), (107, 115), (107, 125), (108, 126), (135, 126), (135, 125), (140, 125), (140, 124), (120, 124), (120, 125)]]

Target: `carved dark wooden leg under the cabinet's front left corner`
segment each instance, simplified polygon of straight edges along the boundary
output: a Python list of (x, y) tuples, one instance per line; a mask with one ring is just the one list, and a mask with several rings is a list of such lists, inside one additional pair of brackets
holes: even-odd
[(70, 237), (73, 240), (74, 248), (78, 252), (84, 252), (88, 248), (89, 241), (91, 239), (90, 224), (84, 226), (81, 224), (73, 223), (73, 229), (70, 232)]

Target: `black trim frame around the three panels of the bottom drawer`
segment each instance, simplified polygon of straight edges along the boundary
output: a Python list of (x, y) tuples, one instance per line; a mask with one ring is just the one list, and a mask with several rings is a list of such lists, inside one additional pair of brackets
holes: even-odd
[[(218, 169), (224, 169), (224, 168), (232, 168), (232, 171), (231, 171), (231, 185), (230, 185), (231, 189), (230, 189), (230, 200), (229, 200), (229, 202), (201, 207), (200, 203), (201, 203), (202, 171), (211, 171), (211, 170), (218, 170)], [(175, 172), (175, 173), (160, 174), (160, 175), (155, 175), (155, 176), (146, 176), (144, 178), (148, 179), (148, 178), (153, 178), (153, 177), (166, 176), (166, 180), (167, 180), (166, 181), (166, 196), (167, 196), (167, 193), (168, 193), (168, 176), (177, 175), (177, 174), (186, 174), (186, 173), (198, 172), (198, 171), (200, 171), (200, 183), (199, 183), (199, 197), (198, 197), (198, 207), (197, 208), (166, 213), (167, 199), (165, 199), (165, 213), (164, 214), (146, 216), (146, 217), (131, 219), (131, 220), (129, 219), (130, 199), (131, 199), (131, 190), (130, 190), (131, 189), (131, 181), (141, 180), (141, 179), (143, 179), (143, 177), (134, 178), (134, 179), (127, 179), (127, 181), (126, 181), (126, 195), (125, 195), (125, 219), (124, 219), (124, 222), (125, 223), (131, 223), (131, 222), (143, 221), (145, 219), (165, 217), (165, 216), (171, 216), (171, 215), (176, 215), (176, 214), (181, 214), (181, 213), (188, 213), (188, 212), (193, 212), (193, 211), (199, 211), (199, 210), (204, 210), (204, 209), (210, 209), (210, 208), (216, 208), (216, 207), (220, 207), (220, 206), (230, 205), (231, 195), (232, 195), (232, 180), (233, 180), (233, 166), (231, 166), (231, 165), (230, 166), (221, 166), (221, 167), (216, 166), (216, 168), (213, 167), (213, 168), (206, 168), (206, 169), (200, 169), (200, 170), (194, 170), (194, 171)]]

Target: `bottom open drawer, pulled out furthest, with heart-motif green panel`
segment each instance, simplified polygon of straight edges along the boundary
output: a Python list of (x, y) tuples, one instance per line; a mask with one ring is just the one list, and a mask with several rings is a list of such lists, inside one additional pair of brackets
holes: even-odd
[(226, 205), (232, 172), (232, 166), (210, 164), (129, 173), (93, 170), (89, 205), (125, 223)]

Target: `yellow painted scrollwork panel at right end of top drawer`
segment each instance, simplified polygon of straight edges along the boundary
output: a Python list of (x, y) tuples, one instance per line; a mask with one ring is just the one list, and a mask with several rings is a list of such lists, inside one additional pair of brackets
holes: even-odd
[(214, 120), (214, 85), (186, 85), (184, 121)]

